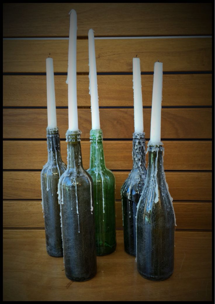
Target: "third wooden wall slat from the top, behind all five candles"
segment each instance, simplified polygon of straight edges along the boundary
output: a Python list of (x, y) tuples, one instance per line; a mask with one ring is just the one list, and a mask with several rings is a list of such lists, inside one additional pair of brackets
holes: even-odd
[[(211, 74), (163, 75), (162, 106), (212, 105)], [(56, 106), (68, 106), (67, 76), (55, 75)], [(98, 75), (100, 106), (133, 106), (132, 75)], [(142, 75), (143, 106), (152, 105), (153, 75)], [(13, 88), (13, 89), (11, 89)], [(89, 77), (77, 75), (79, 106), (90, 106)], [(46, 76), (3, 76), (3, 106), (46, 106)]]

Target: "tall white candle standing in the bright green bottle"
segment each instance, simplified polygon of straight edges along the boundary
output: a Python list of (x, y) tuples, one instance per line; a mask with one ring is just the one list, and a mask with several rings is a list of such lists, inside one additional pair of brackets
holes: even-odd
[(100, 119), (99, 119), (99, 103), (98, 103), (98, 85), (97, 85), (96, 55), (95, 55), (93, 29), (90, 29), (88, 32), (88, 46), (89, 46), (89, 71), (90, 71), (89, 94), (91, 100), (92, 130), (99, 130)]

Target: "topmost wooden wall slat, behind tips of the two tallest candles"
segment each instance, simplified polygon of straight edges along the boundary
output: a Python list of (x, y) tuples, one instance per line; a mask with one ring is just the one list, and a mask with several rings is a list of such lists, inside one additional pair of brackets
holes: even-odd
[(208, 35), (211, 3), (4, 3), (3, 35), (69, 36), (69, 12), (77, 12), (77, 35)]

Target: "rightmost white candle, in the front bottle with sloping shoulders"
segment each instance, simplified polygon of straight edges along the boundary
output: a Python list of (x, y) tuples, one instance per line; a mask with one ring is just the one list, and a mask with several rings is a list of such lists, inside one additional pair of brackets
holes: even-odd
[(161, 141), (161, 102), (162, 102), (163, 64), (155, 62), (154, 80), (152, 91), (152, 114), (151, 114), (151, 145), (159, 145)]

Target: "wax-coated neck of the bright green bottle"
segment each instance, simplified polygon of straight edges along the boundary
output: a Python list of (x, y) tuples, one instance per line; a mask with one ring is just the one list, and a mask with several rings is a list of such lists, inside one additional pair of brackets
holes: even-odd
[(103, 133), (102, 130), (90, 130), (90, 169), (97, 171), (106, 169), (103, 151)]

